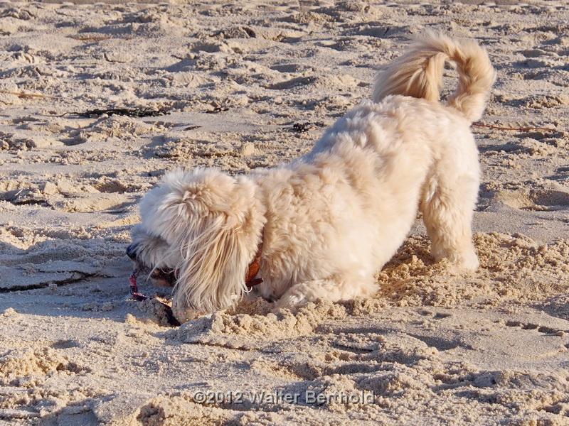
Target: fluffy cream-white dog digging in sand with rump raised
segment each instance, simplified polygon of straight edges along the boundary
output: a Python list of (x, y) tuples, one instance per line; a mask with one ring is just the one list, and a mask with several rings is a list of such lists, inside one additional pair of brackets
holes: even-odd
[[(446, 60), (459, 86), (443, 105)], [(434, 258), (474, 271), (479, 164), (469, 126), (493, 82), (474, 41), (425, 35), (380, 73), (373, 102), (293, 163), (235, 177), (215, 168), (168, 173), (142, 200), (127, 253), (169, 278), (181, 321), (234, 305), (255, 275), (277, 308), (372, 295), (374, 273), (418, 209)]]

